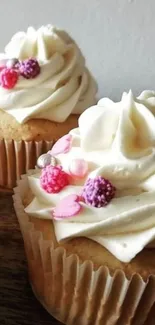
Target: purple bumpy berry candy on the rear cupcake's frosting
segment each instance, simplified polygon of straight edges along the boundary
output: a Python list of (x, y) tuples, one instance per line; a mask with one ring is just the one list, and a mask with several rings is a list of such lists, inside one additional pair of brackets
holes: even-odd
[(26, 79), (33, 79), (40, 73), (40, 66), (36, 59), (27, 59), (16, 64), (21, 76)]

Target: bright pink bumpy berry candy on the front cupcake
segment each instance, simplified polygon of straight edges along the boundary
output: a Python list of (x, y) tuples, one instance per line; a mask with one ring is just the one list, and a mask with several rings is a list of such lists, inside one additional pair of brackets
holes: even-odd
[(69, 184), (68, 174), (62, 166), (48, 165), (41, 171), (40, 184), (47, 193), (58, 193)]

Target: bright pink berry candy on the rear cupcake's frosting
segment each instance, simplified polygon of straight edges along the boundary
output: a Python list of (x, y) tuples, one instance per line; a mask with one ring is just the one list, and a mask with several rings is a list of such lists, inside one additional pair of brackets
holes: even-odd
[(0, 71), (0, 85), (3, 88), (11, 89), (18, 81), (18, 72), (14, 69), (4, 68)]

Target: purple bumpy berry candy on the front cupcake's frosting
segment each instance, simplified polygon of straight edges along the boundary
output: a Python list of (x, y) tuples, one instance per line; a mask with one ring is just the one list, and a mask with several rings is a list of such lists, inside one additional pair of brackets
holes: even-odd
[(89, 178), (86, 181), (82, 191), (82, 197), (86, 204), (101, 208), (113, 199), (115, 191), (115, 187), (109, 180), (97, 176), (94, 179)]

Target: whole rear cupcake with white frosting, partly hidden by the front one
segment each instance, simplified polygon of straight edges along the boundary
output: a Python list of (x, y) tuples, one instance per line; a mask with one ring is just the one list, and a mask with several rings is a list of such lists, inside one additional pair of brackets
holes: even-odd
[(13, 188), (40, 154), (77, 127), (96, 91), (67, 33), (47, 25), (15, 34), (0, 55), (0, 186)]

